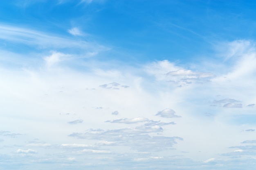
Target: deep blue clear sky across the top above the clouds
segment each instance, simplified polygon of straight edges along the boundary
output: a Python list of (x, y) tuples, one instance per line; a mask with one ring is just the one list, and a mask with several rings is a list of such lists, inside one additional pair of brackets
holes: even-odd
[(80, 39), (114, 48), (102, 60), (186, 62), (211, 55), (216, 41), (253, 39), (254, 9), (240, 0), (4, 1), (0, 20), (63, 36), (79, 27), (88, 34)]

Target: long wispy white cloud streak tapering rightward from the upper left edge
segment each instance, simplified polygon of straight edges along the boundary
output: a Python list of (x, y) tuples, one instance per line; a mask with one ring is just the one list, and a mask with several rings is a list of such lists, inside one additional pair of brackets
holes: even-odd
[[(73, 31), (72, 33), (78, 33)], [(63, 38), (61, 36), (50, 35), (27, 28), (0, 24), (0, 39), (11, 43), (25, 44), (30, 46), (31, 53), (33, 50), (56, 50), (71, 51), (74, 54), (83, 54), (83, 57), (91, 57), (101, 51), (109, 50), (95, 42), (76, 40), (72, 38)], [(80, 56), (81, 57), (81, 56)]]

